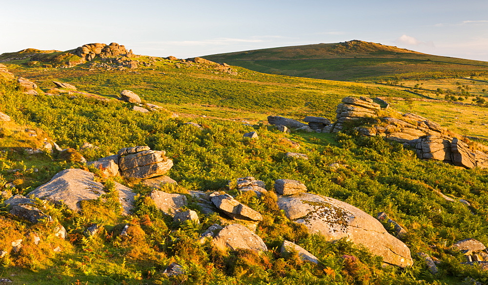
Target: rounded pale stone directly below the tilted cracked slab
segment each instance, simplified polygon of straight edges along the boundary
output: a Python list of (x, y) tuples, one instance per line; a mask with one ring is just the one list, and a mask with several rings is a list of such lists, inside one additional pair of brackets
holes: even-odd
[(212, 245), (220, 250), (249, 249), (253, 251), (267, 251), (263, 240), (249, 228), (240, 224), (232, 224), (223, 228), (213, 239)]

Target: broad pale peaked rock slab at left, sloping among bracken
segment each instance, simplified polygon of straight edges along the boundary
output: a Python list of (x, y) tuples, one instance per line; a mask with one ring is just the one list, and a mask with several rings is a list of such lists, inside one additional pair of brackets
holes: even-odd
[(69, 209), (81, 210), (80, 202), (97, 199), (105, 194), (103, 185), (96, 182), (95, 174), (81, 169), (66, 169), (58, 172), (46, 184), (29, 193), (31, 197), (62, 202)]

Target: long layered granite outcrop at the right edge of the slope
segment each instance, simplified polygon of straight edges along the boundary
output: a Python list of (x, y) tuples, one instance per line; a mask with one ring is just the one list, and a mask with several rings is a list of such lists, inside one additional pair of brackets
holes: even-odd
[(486, 146), (471, 142), (417, 114), (402, 114), (381, 108), (380, 104), (366, 97), (343, 98), (337, 105), (336, 114), (336, 121), (333, 123), (321, 117), (305, 117), (304, 121), (308, 122), (308, 126), (279, 116), (269, 116), (268, 122), (282, 130), (285, 127), (307, 132), (337, 133), (353, 128), (362, 135), (381, 136), (403, 143), (415, 149), (420, 159), (441, 160), (468, 169), (488, 168)]

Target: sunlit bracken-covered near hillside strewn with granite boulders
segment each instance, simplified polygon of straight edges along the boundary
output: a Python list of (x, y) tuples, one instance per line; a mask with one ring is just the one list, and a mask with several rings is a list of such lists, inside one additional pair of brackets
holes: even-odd
[(0, 58), (0, 284), (488, 282), (488, 147), (457, 130), (486, 102), (115, 43)]

